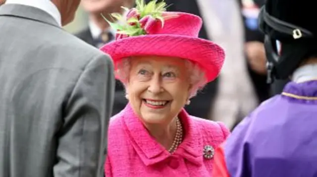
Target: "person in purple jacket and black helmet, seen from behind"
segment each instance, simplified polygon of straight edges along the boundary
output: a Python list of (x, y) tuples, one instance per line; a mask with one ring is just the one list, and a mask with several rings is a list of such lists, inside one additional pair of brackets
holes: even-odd
[[(268, 81), (280, 95), (215, 150), (212, 177), (317, 177), (317, 24), (312, 0), (267, 0), (260, 13)], [(313, 20), (311, 20), (313, 19)]]

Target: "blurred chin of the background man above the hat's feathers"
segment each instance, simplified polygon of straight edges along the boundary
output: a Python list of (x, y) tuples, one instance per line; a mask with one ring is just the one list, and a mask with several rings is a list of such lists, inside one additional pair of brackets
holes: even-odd
[(121, 12), (121, 6), (132, 7), (135, 0), (81, 0), (83, 8), (91, 14)]

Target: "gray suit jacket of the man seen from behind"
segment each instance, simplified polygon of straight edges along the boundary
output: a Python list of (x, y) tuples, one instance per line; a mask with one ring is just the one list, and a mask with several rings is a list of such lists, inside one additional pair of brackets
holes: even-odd
[(113, 65), (48, 13), (0, 6), (0, 177), (102, 177)]

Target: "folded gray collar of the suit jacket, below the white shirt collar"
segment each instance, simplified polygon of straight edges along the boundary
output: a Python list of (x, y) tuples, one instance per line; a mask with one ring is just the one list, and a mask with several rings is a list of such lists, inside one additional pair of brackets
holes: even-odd
[(46, 23), (60, 28), (54, 18), (47, 12), (20, 4), (4, 4), (0, 6), (0, 16), (13, 16)]

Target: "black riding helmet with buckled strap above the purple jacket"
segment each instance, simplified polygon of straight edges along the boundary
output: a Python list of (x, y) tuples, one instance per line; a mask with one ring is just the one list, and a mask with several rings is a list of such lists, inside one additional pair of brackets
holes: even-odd
[[(286, 79), (305, 58), (317, 54), (317, 9), (313, 2), (266, 0), (259, 25), (265, 34), (268, 80)], [(281, 46), (277, 46), (279, 44)]]

